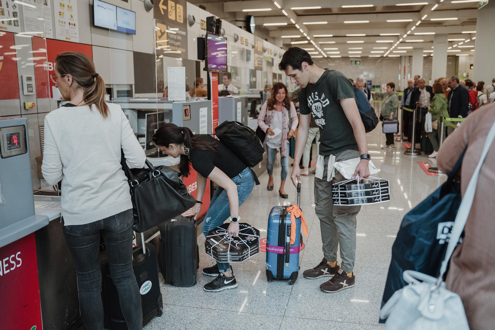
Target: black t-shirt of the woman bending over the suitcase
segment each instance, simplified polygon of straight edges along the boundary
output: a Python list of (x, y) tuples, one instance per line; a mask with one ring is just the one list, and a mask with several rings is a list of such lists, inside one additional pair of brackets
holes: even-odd
[(247, 168), (247, 165), (234, 155), (232, 151), (211, 135), (196, 134), (195, 137), (200, 141), (213, 143), (219, 154), (217, 155), (208, 150), (192, 149), (189, 151), (193, 168), (203, 177), (208, 177), (215, 166), (230, 178), (237, 176)]

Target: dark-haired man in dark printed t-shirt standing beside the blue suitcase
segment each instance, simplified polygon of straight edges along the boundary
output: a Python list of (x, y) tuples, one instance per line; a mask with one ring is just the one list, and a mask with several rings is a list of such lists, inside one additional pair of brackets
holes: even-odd
[[(320, 155), (314, 179), (315, 212), (320, 219), (323, 260), (304, 271), (306, 278), (332, 277), (320, 285), (325, 292), (338, 292), (354, 286), (352, 272), (356, 253), (356, 216), (360, 206), (338, 206), (332, 202), (332, 184), (345, 180), (333, 164), (361, 158), (352, 178), (369, 176), (366, 132), (354, 99), (353, 86), (339, 71), (321, 69), (304, 50), (292, 47), (284, 53), (279, 69), (300, 87), (299, 126), (294, 164), (298, 164), (308, 137), (311, 117), (320, 127)], [(300, 182), (300, 169), (291, 174)], [(337, 262), (340, 244), (342, 265)]]

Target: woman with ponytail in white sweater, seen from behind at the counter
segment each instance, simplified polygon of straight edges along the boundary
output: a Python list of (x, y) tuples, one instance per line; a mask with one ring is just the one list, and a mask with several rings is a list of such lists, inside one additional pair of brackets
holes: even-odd
[(105, 103), (105, 83), (91, 58), (60, 53), (50, 76), (65, 106), (45, 117), (42, 172), (62, 181), (63, 232), (76, 268), (86, 329), (103, 329), (100, 233), (128, 329), (142, 329), (141, 295), (132, 269), (132, 202), (122, 170), (141, 168), (145, 153), (120, 106)]

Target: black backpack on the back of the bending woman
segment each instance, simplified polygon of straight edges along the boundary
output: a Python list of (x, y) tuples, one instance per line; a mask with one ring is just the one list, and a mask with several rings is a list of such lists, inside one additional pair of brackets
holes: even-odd
[[(254, 167), (263, 160), (263, 143), (251, 128), (242, 123), (225, 120), (216, 127), (215, 135), (247, 166)], [(253, 175), (256, 184), (259, 184), (254, 172)]]

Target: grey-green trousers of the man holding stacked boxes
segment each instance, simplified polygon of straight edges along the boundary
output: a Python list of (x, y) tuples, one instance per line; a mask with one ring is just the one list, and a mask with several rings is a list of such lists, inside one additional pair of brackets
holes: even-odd
[[(336, 154), (335, 161), (342, 162), (358, 157), (358, 150), (344, 150)], [(356, 257), (356, 216), (361, 206), (333, 205), (332, 184), (346, 178), (336, 170), (332, 181), (327, 181), (328, 159), (329, 156), (325, 156), (323, 179), (314, 178), (315, 212), (320, 219), (322, 250), (325, 259), (334, 262), (337, 261), (337, 247), (340, 245), (341, 269), (350, 273)]]

